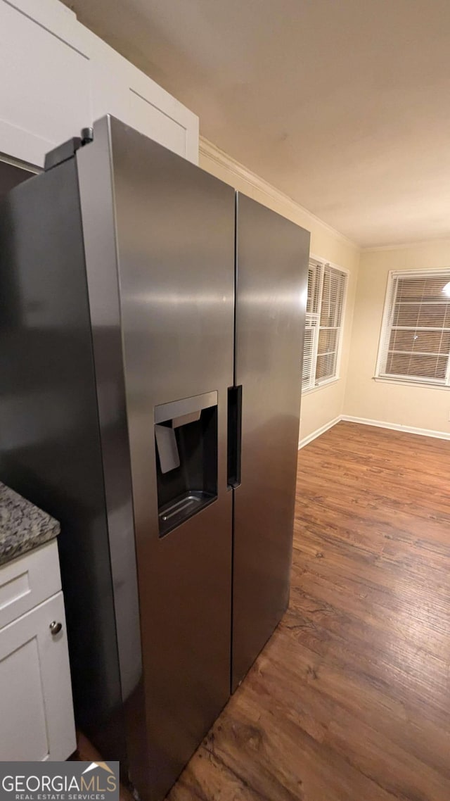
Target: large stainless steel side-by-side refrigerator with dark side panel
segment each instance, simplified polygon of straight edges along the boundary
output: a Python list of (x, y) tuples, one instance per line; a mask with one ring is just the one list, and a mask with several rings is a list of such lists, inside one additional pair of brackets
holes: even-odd
[(62, 522), (78, 727), (162, 799), (289, 594), (309, 234), (105, 117), (0, 214), (0, 477)]

